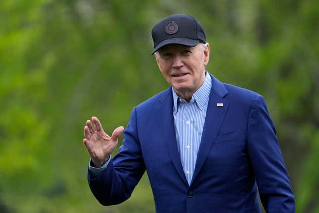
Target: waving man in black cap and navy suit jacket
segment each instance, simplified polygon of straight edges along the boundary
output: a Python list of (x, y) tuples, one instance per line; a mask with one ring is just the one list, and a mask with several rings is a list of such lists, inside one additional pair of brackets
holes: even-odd
[[(167, 90), (136, 106), (111, 136), (96, 117), (84, 144), (88, 181), (103, 205), (131, 196), (147, 171), (157, 213), (293, 213), (295, 202), (262, 96), (205, 71), (209, 44), (192, 16), (171, 15), (152, 30)], [(95, 126), (95, 129), (94, 127)]]

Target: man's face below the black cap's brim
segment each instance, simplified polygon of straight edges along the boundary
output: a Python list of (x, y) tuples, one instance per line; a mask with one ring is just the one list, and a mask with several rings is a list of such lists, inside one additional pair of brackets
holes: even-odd
[(209, 45), (195, 47), (171, 44), (155, 55), (159, 69), (176, 93), (189, 96), (196, 92), (205, 80), (205, 66), (209, 60)]

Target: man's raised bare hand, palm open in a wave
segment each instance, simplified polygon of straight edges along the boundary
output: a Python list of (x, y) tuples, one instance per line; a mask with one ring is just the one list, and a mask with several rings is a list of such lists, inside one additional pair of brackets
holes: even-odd
[(113, 131), (112, 136), (109, 136), (104, 132), (101, 122), (97, 117), (92, 117), (92, 122), (95, 130), (91, 120), (87, 120), (86, 126), (84, 127), (84, 135), (86, 138), (83, 139), (83, 143), (88, 149), (94, 166), (102, 167), (117, 146), (118, 137), (123, 132), (124, 127), (117, 127)]

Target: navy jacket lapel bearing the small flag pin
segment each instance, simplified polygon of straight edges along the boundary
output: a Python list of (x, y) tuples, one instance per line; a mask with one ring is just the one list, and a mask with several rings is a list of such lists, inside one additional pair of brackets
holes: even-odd
[[(223, 99), (223, 97), (228, 93), (225, 86), (214, 76), (211, 75), (211, 77), (213, 85), (209, 96), (202, 138), (197, 153), (197, 160), (191, 184), (193, 183), (212, 149), (229, 105), (228, 100)], [(223, 104), (223, 106), (217, 106), (217, 104)]]

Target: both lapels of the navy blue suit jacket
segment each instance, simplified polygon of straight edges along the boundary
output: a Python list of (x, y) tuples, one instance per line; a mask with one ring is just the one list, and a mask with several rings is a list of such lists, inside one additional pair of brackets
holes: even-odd
[[(216, 136), (223, 123), (229, 106), (228, 100), (223, 98), (228, 94), (228, 91), (225, 88), (224, 84), (217, 80), (213, 75), (211, 75), (211, 78), (213, 84), (209, 96), (201, 143), (197, 153), (197, 160), (191, 184), (198, 175), (201, 167), (203, 166), (205, 160), (207, 159), (212, 149), (212, 146), (215, 142)], [(163, 137), (163, 142), (167, 145), (169, 155), (173, 161), (176, 170), (178, 171), (182, 180), (188, 185), (185, 174), (183, 172), (182, 161), (180, 158), (180, 153), (178, 151), (176, 141), (173, 116), (172, 87), (168, 88), (165, 91), (162, 98), (160, 98), (159, 102), (160, 105), (156, 109), (156, 117), (159, 120), (164, 120), (164, 122), (159, 122), (158, 124), (160, 133)], [(217, 106), (217, 104), (221, 103), (223, 103), (223, 106)]]

